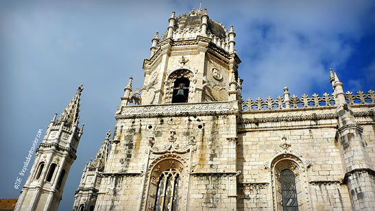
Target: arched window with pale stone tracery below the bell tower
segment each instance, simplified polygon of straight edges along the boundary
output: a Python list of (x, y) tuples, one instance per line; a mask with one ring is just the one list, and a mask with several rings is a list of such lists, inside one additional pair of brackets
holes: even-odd
[(155, 211), (177, 211), (178, 190), (180, 189), (180, 174), (176, 169), (163, 171), (159, 177), (156, 195)]

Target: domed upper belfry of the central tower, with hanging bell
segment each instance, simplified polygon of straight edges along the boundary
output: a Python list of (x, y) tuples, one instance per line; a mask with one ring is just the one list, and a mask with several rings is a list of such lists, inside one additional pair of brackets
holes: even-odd
[(172, 12), (167, 31), (161, 38), (156, 32), (143, 62), (145, 82), (129, 99), (142, 105), (239, 99), (235, 36), (233, 26), (228, 31), (206, 9), (178, 17)]

